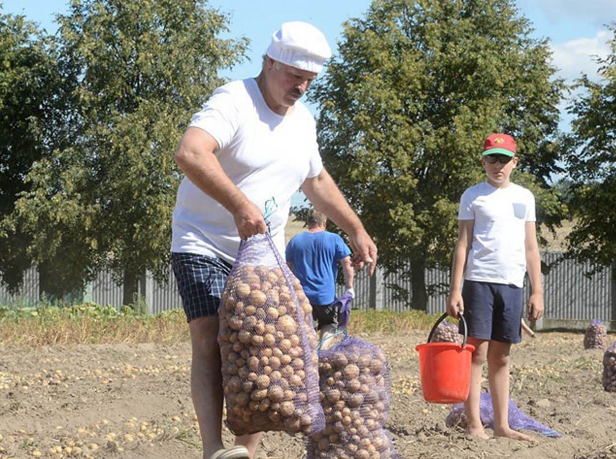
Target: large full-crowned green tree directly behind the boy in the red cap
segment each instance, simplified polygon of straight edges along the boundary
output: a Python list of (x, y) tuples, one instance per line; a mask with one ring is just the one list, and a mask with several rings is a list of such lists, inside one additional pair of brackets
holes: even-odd
[(557, 104), (545, 40), (509, 0), (375, 0), (344, 26), (339, 55), (311, 94), (325, 165), (379, 245), (387, 270), (410, 260), (412, 303), (424, 272), (450, 266), (464, 189), (485, 179), (487, 134), (512, 134), (514, 181), (557, 222)]

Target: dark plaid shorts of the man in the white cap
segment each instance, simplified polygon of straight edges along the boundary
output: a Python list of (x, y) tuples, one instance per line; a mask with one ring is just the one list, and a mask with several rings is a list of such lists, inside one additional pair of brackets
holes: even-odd
[(231, 265), (219, 258), (195, 253), (171, 253), (171, 266), (187, 322), (218, 314)]

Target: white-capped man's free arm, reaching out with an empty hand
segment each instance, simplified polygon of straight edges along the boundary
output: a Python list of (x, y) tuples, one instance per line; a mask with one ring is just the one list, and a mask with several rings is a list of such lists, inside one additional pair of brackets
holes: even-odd
[(370, 275), (372, 275), (377, 259), (376, 245), (325, 168), (318, 176), (306, 179), (302, 184), (302, 191), (317, 210), (322, 211), (349, 235), (353, 251), (352, 265), (361, 269), (370, 263)]

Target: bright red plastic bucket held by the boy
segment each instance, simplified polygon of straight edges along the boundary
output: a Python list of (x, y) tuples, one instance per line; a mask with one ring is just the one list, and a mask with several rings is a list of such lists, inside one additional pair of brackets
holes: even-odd
[(415, 347), (419, 352), (421, 390), (426, 402), (453, 404), (464, 402), (471, 387), (471, 360), (475, 346), (466, 344), (466, 320), (458, 315), (464, 325), (464, 339), (460, 343), (430, 343), (432, 335), (445, 320), (440, 316), (428, 335), (428, 343)]

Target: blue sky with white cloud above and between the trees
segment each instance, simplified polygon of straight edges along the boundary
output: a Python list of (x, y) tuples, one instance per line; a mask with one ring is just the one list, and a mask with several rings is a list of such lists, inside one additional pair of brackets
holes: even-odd
[[(2, 1), (2, 0), (0, 0)], [(361, 18), (370, 0), (209, 0), (209, 6), (229, 15), (229, 36), (246, 36), (251, 44), (246, 53), (249, 61), (223, 73), (230, 79), (257, 76), (261, 56), (272, 33), (281, 23), (303, 20), (323, 31), (336, 54), (341, 39), (342, 23), (349, 18)], [(57, 30), (55, 14), (68, 12), (68, 0), (4, 0), (4, 14), (23, 14), (37, 22), (48, 33)], [(549, 39), (553, 63), (559, 76), (569, 83), (586, 73), (598, 79), (596, 57), (606, 57), (607, 41), (612, 33), (607, 22), (616, 20), (616, 0), (516, 0), (519, 12), (529, 18), (535, 38)], [(561, 107), (561, 129), (567, 130), (570, 117)], [(310, 107), (314, 112), (315, 108)], [(294, 205), (298, 205), (297, 201)]]

